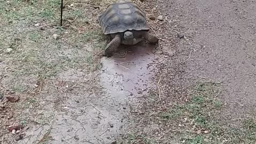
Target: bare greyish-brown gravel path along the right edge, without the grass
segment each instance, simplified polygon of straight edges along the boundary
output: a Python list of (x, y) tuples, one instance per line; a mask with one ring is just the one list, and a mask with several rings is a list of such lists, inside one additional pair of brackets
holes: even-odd
[[(238, 122), (255, 114), (255, 3), (253, 1), (174, 1), (162, 5), (192, 36), (187, 74), (222, 82), (226, 109), (220, 119)], [(175, 9), (167, 10), (169, 7)], [(173, 17), (172, 17), (173, 16)], [(177, 19), (173, 19), (177, 18)], [(189, 25), (188, 25), (189, 23)], [(179, 49), (179, 47), (177, 47)]]

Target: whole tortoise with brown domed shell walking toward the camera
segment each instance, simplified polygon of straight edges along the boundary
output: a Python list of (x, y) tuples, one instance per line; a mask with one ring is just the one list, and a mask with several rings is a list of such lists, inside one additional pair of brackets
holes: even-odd
[(105, 47), (105, 55), (111, 57), (119, 45), (135, 45), (146, 39), (149, 43), (157, 43), (158, 38), (149, 33), (146, 14), (140, 7), (129, 1), (110, 4), (100, 13), (98, 21), (103, 34), (110, 36), (111, 41)]

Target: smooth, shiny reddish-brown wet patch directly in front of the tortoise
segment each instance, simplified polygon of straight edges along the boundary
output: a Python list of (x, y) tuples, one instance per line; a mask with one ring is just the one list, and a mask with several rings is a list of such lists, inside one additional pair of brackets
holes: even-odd
[(103, 58), (103, 86), (114, 95), (123, 91), (127, 95), (140, 97), (148, 91), (150, 85), (148, 79), (151, 76), (151, 68), (148, 65), (154, 58), (152, 51), (152, 46), (133, 46), (121, 50), (121, 53), (111, 58)]

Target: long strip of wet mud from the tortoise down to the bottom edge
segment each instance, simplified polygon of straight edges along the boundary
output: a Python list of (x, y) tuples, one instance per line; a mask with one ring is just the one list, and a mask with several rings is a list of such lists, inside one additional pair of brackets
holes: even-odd
[(109, 122), (114, 124), (114, 127), (109, 127), (109, 131), (102, 135), (101, 141), (107, 142), (107, 137), (116, 138), (122, 133), (127, 133), (125, 117), (130, 111), (129, 106), (135, 107), (137, 98), (147, 93), (150, 86), (148, 79), (151, 69), (148, 64), (154, 58), (152, 50), (153, 47), (133, 46), (121, 50), (121, 53), (111, 58), (102, 59), (100, 78), (107, 98), (99, 105), (108, 115), (100, 123), (104, 125)]

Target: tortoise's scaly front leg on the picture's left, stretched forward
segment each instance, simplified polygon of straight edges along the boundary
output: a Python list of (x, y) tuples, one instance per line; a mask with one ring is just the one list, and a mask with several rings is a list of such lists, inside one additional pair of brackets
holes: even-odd
[(121, 44), (121, 37), (120, 35), (116, 35), (115, 38), (112, 39), (111, 42), (105, 48), (105, 55), (107, 57), (111, 57), (112, 53), (117, 51), (118, 46)]

